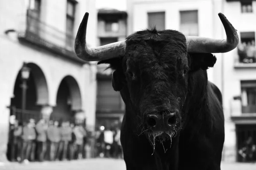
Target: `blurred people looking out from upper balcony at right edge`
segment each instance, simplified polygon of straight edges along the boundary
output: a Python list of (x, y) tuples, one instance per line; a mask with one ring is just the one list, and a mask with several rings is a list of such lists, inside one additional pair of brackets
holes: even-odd
[(242, 42), (238, 45), (238, 55), (240, 63), (255, 63), (256, 62), (256, 47), (255, 41)]

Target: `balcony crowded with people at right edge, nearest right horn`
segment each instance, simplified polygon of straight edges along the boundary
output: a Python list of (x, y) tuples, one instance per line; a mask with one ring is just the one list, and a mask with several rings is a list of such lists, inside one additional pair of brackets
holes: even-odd
[(256, 68), (256, 47), (254, 40), (248, 43), (239, 43), (237, 47), (238, 59), (235, 68)]

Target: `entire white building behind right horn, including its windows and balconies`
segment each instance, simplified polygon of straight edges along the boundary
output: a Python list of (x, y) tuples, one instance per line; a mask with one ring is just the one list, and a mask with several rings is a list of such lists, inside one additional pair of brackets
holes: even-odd
[(249, 136), (256, 141), (255, 11), (255, 0), (127, 1), (128, 35), (156, 25), (159, 30), (174, 29), (184, 35), (224, 39), (226, 34), (219, 12), (238, 30), (240, 49), (215, 54), (214, 68), (207, 70), (209, 81), (215, 83), (223, 95), (224, 161), (241, 161), (238, 150), (244, 141)]

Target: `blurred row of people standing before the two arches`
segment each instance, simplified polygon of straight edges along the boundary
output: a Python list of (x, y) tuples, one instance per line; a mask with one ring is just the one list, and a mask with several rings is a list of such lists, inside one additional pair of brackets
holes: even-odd
[(86, 157), (87, 131), (81, 123), (29, 119), (21, 124), (15, 120), (9, 132), (7, 157), (10, 161), (28, 163)]

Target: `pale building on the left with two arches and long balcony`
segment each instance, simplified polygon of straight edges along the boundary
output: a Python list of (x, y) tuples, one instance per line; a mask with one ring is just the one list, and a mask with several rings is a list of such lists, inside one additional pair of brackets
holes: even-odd
[[(10, 115), (20, 121), (37, 121), (42, 114), (71, 121), (79, 114), (94, 130), (96, 66), (73, 50), (85, 12), (90, 13), (88, 45), (96, 46), (94, 0), (0, 1), (0, 161), (6, 159)], [(23, 63), (30, 73), (26, 91)]]

